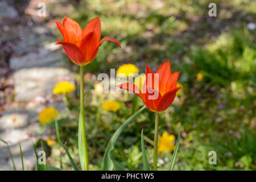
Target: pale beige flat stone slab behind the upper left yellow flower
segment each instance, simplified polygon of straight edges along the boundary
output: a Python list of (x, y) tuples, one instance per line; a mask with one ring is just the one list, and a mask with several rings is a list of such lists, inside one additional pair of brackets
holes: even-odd
[(28, 102), (36, 96), (48, 96), (57, 82), (68, 77), (69, 71), (65, 68), (20, 69), (14, 73), (15, 101)]

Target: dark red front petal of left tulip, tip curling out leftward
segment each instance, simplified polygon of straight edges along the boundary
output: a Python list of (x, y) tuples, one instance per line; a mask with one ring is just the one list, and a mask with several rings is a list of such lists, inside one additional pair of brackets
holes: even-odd
[(69, 42), (60, 42), (59, 40), (56, 44), (61, 44), (63, 46), (64, 51), (67, 53), (69, 59), (73, 61), (73, 63), (83, 65), (84, 56), (82, 55), (79, 47)]

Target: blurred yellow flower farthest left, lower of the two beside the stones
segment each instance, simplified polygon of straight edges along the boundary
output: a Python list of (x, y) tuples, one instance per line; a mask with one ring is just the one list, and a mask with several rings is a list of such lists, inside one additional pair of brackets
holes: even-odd
[(53, 107), (46, 107), (46, 109), (42, 110), (41, 113), (38, 115), (39, 122), (42, 125), (46, 125), (47, 123), (50, 123), (57, 117), (59, 112), (57, 109)]

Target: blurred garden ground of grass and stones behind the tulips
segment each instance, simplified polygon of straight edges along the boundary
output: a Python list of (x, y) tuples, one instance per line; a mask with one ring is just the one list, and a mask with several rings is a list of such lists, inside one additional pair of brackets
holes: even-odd
[[(209, 3), (217, 16), (208, 15)], [(46, 5), (40, 17), (39, 3)], [(164, 1), (164, 0), (3, 0), (0, 2), (0, 138), (9, 143), (14, 162), (21, 168), (20, 141), (26, 169), (34, 169), (32, 142), (44, 141), (47, 163), (72, 169), (68, 156), (56, 143), (54, 122), (42, 125), (38, 114), (46, 106), (59, 111), (61, 141), (77, 164), (79, 118), (79, 67), (64, 54), (56, 40), (63, 40), (55, 21), (64, 16), (82, 28), (100, 17), (104, 43), (96, 59), (85, 67), (85, 121), (89, 168), (98, 170), (109, 139), (131, 114), (143, 106), (137, 96), (98, 94), (99, 73), (134, 64), (144, 73), (171, 59), (172, 72), (180, 71), (183, 86), (174, 104), (160, 114), (159, 134), (177, 136), (180, 147), (175, 170), (256, 169), (255, 73), (256, 1)], [(59, 81), (71, 81), (76, 90), (63, 97), (52, 90)], [(105, 101), (121, 108), (108, 111)], [(138, 103), (136, 103), (138, 102)], [(68, 104), (67, 104), (68, 103)], [(146, 136), (152, 163), (154, 113), (145, 109), (117, 140), (114, 169), (142, 170), (141, 130)], [(37, 145), (40, 150), (40, 144)], [(217, 164), (209, 164), (209, 151), (216, 151)], [(167, 169), (171, 152), (159, 155), (159, 169)], [(0, 169), (13, 169), (5, 143), (0, 143)]]

